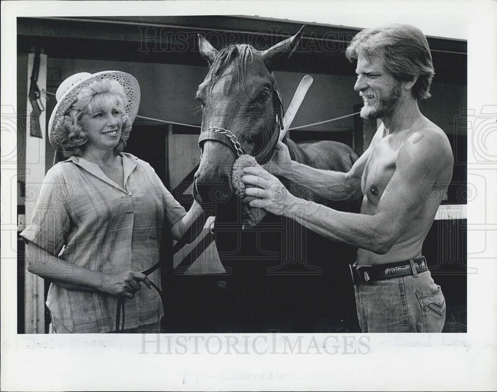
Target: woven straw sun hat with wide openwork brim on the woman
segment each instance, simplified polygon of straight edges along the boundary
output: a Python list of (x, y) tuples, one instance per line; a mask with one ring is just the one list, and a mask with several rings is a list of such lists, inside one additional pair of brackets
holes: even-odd
[(134, 76), (120, 71), (103, 71), (97, 72), (96, 74), (81, 72), (72, 75), (64, 80), (57, 89), (57, 92), (55, 93), (57, 104), (55, 105), (54, 111), (50, 116), (50, 121), (48, 122), (48, 137), (50, 143), (56, 150), (58, 150), (58, 148), (52, 140), (52, 130), (64, 116), (66, 110), (78, 99), (78, 94), (81, 89), (90, 85), (95, 80), (103, 79), (116, 80), (123, 86), (124, 93), (128, 100), (124, 111), (129, 116), (131, 122), (134, 121), (136, 114), (138, 113), (138, 107), (140, 106), (140, 85)]

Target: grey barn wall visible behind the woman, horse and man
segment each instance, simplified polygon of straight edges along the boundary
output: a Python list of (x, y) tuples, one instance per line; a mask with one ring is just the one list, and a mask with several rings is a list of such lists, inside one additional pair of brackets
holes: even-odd
[[(26, 58), (27, 55), (19, 54), (17, 56), (18, 64), (25, 64)], [(198, 84), (202, 82), (207, 73), (207, 67), (48, 58), (47, 90), (55, 93), (65, 78), (77, 72), (95, 73), (104, 70), (128, 72), (138, 79), (141, 87), (139, 115), (179, 123), (200, 124), (201, 114), (199, 103), (195, 99), (195, 92)], [(288, 107), (293, 92), (304, 75), (299, 72), (275, 72), (285, 108)], [(353, 113), (353, 106), (361, 103), (358, 94), (353, 90), (354, 77), (324, 74), (313, 74), (312, 77), (314, 83), (292, 126), (315, 123), (350, 114)], [(25, 76), (19, 82), (20, 84), (26, 83)], [(24, 90), (24, 88), (18, 89), (18, 102), (26, 99)], [(464, 128), (455, 130), (454, 121), (461, 110), (467, 106), (466, 85), (434, 82), (431, 91), (431, 98), (419, 102), (421, 111), (447, 134), (457, 133), (458, 136), (465, 136)], [(55, 105), (55, 97), (49, 95), (48, 98), (47, 113), (50, 114)], [(47, 116), (47, 121), (48, 118), (49, 116)], [(137, 119), (136, 124), (140, 123), (146, 124), (147, 121)], [(148, 123), (150, 124), (150, 122)], [(353, 118), (348, 117), (308, 129), (334, 132), (350, 131), (353, 129)], [(198, 163), (198, 151), (184, 151), (195, 148), (195, 139), (196, 137), (192, 135), (175, 134), (169, 141), (169, 151), (172, 153), (169, 162), (171, 165), (169, 167), (171, 185), (176, 184)], [(182, 159), (185, 154), (188, 156), (186, 160)], [(20, 155), (22, 156), (22, 152)], [(53, 155), (54, 150), (47, 141), (47, 170), (52, 166)]]

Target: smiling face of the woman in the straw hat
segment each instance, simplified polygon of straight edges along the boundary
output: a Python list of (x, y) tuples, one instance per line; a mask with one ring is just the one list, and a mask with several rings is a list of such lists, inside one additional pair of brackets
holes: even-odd
[(97, 99), (88, 113), (83, 113), (80, 124), (88, 137), (85, 149), (113, 150), (121, 138), (123, 115), (117, 99), (107, 95)]

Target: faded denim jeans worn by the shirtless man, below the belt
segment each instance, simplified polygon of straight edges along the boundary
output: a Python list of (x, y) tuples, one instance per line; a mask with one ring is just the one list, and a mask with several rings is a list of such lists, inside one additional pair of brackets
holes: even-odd
[(429, 271), (355, 288), (362, 332), (441, 332), (445, 299)]

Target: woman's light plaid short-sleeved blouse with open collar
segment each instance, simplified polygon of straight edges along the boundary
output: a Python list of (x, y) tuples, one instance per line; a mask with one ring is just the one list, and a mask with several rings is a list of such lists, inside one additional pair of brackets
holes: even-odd
[[(163, 228), (170, 230), (185, 210), (150, 164), (131, 154), (121, 157), (124, 189), (82, 157), (53, 166), (21, 236), (54, 256), (65, 246), (61, 259), (104, 274), (143, 271), (157, 263)], [(160, 286), (159, 271), (149, 278)], [(47, 306), (55, 331), (58, 326), (75, 333), (115, 328), (117, 297), (52, 283)], [(155, 290), (138, 291), (125, 307), (125, 329), (157, 322), (163, 315)]]

